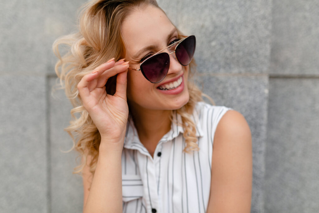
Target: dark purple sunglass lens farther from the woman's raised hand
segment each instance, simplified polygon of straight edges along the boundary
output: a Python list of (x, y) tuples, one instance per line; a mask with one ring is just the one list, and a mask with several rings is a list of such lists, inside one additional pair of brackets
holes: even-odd
[(175, 55), (183, 66), (188, 65), (192, 60), (195, 53), (195, 47), (196, 38), (194, 35), (189, 36), (176, 47)]

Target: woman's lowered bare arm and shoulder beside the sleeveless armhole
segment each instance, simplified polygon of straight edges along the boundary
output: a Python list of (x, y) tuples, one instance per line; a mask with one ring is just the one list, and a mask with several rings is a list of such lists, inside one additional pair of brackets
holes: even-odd
[(230, 110), (216, 128), (211, 163), (208, 213), (250, 212), (251, 133), (241, 113)]

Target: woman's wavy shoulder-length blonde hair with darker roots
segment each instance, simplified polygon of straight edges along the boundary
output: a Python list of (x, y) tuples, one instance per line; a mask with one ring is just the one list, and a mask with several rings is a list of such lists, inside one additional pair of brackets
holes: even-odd
[[(115, 57), (115, 61), (125, 55), (125, 47), (121, 36), (121, 23), (136, 7), (153, 5), (159, 8), (155, 0), (93, 0), (81, 7), (78, 18), (79, 32), (56, 39), (53, 51), (58, 57), (55, 71), (60, 79), (60, 85), (65, 89), (73, 109), (70, 126), (64, 130), (73, 140), (72, 149), (77, 150), (85, 161), (78, 165), (73, 173), (83, 170), (87, 156), (90, 155), (90, 171), (94, 174), (99, 155), (100, 133), (82, 104), (77, 85), (82, 77), (95, 67)], [(160, 9), (160, 8), (159, 8)], [(181, 32), (178, 31), (182, 36)], [(61, 57), (59, 45), (66, 45), (68, 51)], [(189, 65), (189, 79), (195, 72), (196, 63), (193, 59)], [(60, 71), (59, 71), (60, 69)], [(107, 93), (115, 92), (116, 76), (107, 82)], [(198, 101), (202, 101), (202, 92), (192, 80), (188, 81), (189, 102), (178, 110), (172, 110), (181, 115), (184, 128), (183, 137), (186, 147), (184, 152), (199, 150), (196, 138), (196, 126), (191, 115)], [(78, 117), (76, 115), (79, 115)], [(72, 150), (71, 149), (71, 150)]]

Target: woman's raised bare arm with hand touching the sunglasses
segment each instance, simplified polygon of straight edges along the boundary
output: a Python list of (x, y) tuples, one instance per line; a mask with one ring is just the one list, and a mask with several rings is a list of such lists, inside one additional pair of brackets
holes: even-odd
[[(122, 212), (121, 156), (129, 113), (126, 100), (128, 62), (123, 61), (110, 59), (84, 75), (77, 86), (83, 106), (101, 136), (94, 176), (91, 177), (89, 171), (90, 156), (83, 171), (83, 212)], [(105, 84), (116, 74), (116, 92), (109, 95)]]

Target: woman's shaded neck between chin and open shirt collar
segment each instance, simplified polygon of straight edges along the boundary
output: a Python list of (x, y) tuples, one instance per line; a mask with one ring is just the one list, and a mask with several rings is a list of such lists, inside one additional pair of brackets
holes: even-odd
[(171, 128), (171, 110), (149, 110), (130, 104), (130, 111), (142, 144), (156, 147)]

